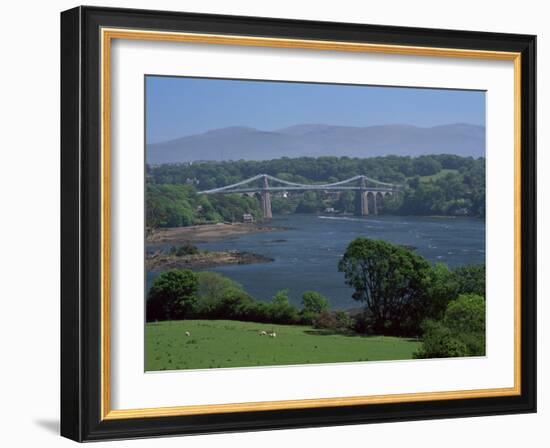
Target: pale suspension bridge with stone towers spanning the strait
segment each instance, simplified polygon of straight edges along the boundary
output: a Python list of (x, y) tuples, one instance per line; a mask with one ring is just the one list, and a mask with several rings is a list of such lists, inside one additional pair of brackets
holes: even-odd
[(401, 185), (381, 182), (365, 175), (353, 176), (349, 179), (328, 184), (300, 184), (279, 179), (269, 174), (257, 174), (231, 185), (200, 191), (199, 194), (259, 194), (262, 201), (263, 216), (269, 219), (273, 217), (271, 195), (293, 191), (354, 191), (355, 214), (367, 216), (369, 214), (377, 215), (383, 206), (384, 198), (401, 191)]

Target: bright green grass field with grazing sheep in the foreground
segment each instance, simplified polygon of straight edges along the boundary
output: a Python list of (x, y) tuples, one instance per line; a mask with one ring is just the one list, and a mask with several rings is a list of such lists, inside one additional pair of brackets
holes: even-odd
[[(185, 332), (191, 333), (186, 336)], [(276, 332), (277, 337), (260, 332)], [(145, 368), (206, 369), (411, 359), (419, 342), (388, 336), (347, 336), (312, 327), (231, 320), (148, 323)]]

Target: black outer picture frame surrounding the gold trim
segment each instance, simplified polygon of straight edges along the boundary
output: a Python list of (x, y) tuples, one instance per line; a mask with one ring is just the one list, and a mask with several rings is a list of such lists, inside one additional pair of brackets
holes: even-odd
[[(521, 394), (101, 418), (100, 29), (131, 28), (521, 53)], [(61, 14), (61, 434), (76, 441), (536, 412), (536, 37), (77, 7)]]

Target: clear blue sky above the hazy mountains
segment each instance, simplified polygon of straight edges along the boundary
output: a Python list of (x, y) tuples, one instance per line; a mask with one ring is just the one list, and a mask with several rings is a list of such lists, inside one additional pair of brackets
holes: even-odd
[(295, 124), (485, 125), (485, 92), (147, 76), (147, 143)]

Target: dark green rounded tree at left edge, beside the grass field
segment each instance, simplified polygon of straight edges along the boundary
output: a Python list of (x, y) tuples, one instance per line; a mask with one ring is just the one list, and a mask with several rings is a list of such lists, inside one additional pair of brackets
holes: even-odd
[(197, 276), (188, 269), (170, 269), (153, 282), (147, 298), (147, 320), (179, 320), (193, 309)]

